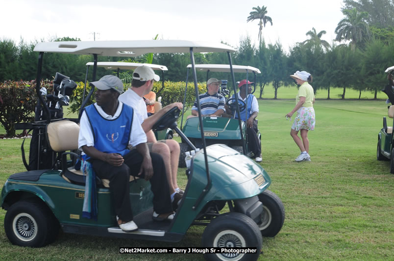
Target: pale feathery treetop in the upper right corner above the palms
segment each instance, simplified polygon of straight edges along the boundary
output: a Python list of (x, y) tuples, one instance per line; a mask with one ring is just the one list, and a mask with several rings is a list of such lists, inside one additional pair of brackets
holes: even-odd
[(344, 4), (343, 10), (356, 8), (359, 12), (367, 12), (369, 26), (394, 26), (393, 0), (344, 0)]

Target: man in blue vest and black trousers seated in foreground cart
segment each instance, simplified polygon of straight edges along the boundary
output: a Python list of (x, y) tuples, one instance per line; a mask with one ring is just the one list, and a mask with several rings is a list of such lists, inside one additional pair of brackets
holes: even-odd
[[(144, 177), (153, 192), (153, 219), (172, 219), (172, 203), (162, 157), (149, 153), (147, 138), (134, 109), (118, 101), (122, 81), (106, 75), (90, 83), (96, 87), (96, 103), (85, 107), (80, 119), (78, 147), (97, 176), (109, 179), (118, 225), (125, 232), (138, 229), (133, 221), (129, 178)], [(128, 145), (136, 147), (129, 151)]]

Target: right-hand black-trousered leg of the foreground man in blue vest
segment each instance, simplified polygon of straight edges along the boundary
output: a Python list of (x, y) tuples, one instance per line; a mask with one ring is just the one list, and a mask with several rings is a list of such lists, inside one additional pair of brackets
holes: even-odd
[[(157, 153), (150, 153), (153, 166), (153, 176), (149, 179), (153, 192), (153, 210), (157, 214), (171, 213), (172, 203), (167, 183), (166, 169), (163, 158)], [(138, 176), (143, 157), (137, 150), (132, 150), (123, 156), (124, 163), (129, 166), (130, 174)], [(144, 177), (144, 173), (138, 177)]]

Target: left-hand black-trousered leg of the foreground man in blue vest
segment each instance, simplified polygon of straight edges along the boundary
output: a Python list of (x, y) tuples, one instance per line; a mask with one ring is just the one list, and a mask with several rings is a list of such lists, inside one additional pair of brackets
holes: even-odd
[(109, 179), (109, 190), (115, 200), (115, 214), (124, 222), (133, 220), (129, 197), (129, 167), (126, 164), (115, 167), (98, 159), (91, 162), (98, 177)]

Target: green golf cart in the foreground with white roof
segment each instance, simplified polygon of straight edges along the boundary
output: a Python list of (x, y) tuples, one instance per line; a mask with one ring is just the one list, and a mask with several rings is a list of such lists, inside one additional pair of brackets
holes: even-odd
[[(253, 253), (209, 252), (204, 254), (207, 260), (258, 259), (262, 236), (275, 236), (285, 218), (279, 197), (267, 190), (271, 178), (260, 165), (226, 145), (204, 144), (191, 159), (188, 183), (174, 219), (163, 222), (152, 220), (150, 183), (130, 177), (131, 205), (139, 229), (125, 233), (117, 226), (108, 180), (97, 179), (96, 182), (97, 220), (82, 218), (85, 176), (74, 168), (79, 156), (75, 153), (79, 126), (75, 119), (51, 117), (40, 94), (41, 69), (46, 52), (93, 55), (93, 82), (96, 81), (98, 55), (134, 57), (150, 52), (190, 53), (193, 65), (195, 52), (225, 52), (231, 65), (230, 53), (235, 51), (232, 47), (221, 43), (175, 40), (81, 41), (38, 43), (34, 51), (39, 52), (36, 93), (44, 108), (43, 120), (23, 124), (24, 127), (44, 131), (46, 150), (54, 154), (53, 167), (11, 174), (5, 181), (0, 206), (6, 210), (4, 230), (11, 243), (42, 247), (56, 239), (60, 228), (73, 234), (177, 242), (183, 239), (189, 227), (202, 225), (205, 226), (201, 237), (203, 247), (224, 250), (250, 247), (256, 250)], [(194, 66), (192, 68), (198, 97), (196, 70)], [(83, 101), (82, 108), (92, 93), (93, 89)], [(171, 109), (153, 128), (175, 129), (195, 149), (177, 128), (179, 113), (177, 108)], [(203, 131), (201, 126), (204, 141)]]

